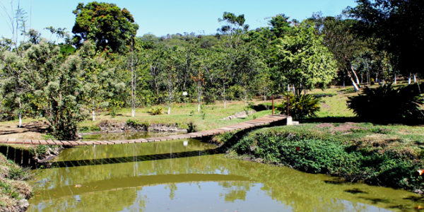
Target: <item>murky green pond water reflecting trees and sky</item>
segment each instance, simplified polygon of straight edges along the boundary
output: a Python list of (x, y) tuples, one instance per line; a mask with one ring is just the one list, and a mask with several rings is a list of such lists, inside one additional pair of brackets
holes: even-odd
[(411, 192), (210, 155), (189, 140), (66, 149), (32, 182), (29, 211), (400, 211)]

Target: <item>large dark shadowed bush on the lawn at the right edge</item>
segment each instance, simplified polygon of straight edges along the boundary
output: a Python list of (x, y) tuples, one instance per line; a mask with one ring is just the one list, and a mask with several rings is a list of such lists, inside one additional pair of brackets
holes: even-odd
[(348, 108), (361, 119), (372, 122), (422, 121), (424, 114), (420, 110), (421, 104), (423, 97), (416, 85), (393, 88), (391, 84), (386, 84), (378, 88), (365, 88), (363, 94), (348, 98)]

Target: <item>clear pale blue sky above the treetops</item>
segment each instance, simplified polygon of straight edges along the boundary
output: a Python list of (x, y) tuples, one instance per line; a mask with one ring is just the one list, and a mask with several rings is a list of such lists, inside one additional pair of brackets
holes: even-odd
[[(10, 12), (11, 0), (0, 0), (0, 6)], [(18, 0), (13, 0), (17, 5)], [(50, 38), (48, 26), (66, 28), (71, 32), (75, 16), (72, 11), (78, 2), (73, 0), (32, 0), (31, 28), (42, 33), (42, 37)], [(324, 16), (336, 16), (346, 8), (355, 6), (355, 0), (161, 0), (161, 1), (103, 1), (127, 8), (139, 24), (137, 35), (146, 33), (161, 36), (175, 33), (214, 34), (220, 27), (218, 18), (224, 11), (245, 14), (246, 23), (251, 28), (266, 26), (268, 19), (278, 13), (285, 13), (290, 18), (303, 20), (312, 13), (321, 11)], [(30, 16), (31, 0), (20, 0), (20, 6)], [(11, 30), (0, 8), (0, 37), (11, 37)], [(53, 37), (52, 37), (53, 38)]]

